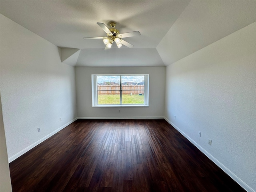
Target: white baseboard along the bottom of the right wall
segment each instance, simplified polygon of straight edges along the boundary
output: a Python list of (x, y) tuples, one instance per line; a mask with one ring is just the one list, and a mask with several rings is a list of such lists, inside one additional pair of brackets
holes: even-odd
[(186, 137), (194, 146), (196, 146), (203, 154), (205, 154), (212, 162), (214, 162), (218, 167), (220, 167), (226, 174), (228, 174), (234, 181), (236, 181), (242, 188), (244, 188), (248, 192), (255, 192), (250, 186), (248, 186), (245, 182), (243, 182), (238, 176), (236, 176), (232, 171), (226, 168), (221, 162), (219, 162), (214, 156), (208, 153), (204, 148), (202, 148), (199, 144), (197, 144), (194, 140), (192, 140), (188, 135), (186, 135), (182, 130), (180, 130), (176, 125), (174, 125), (170, 120), (166, 117), (164, 119), (171, 124), (178, 132), (180, 132), (184, 137)]

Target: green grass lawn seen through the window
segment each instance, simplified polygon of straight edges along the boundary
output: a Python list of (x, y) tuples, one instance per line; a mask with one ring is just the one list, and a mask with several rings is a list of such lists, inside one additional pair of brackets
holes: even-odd
[[(98, 104), (120, 104), (120, 95), (98, 95)], [(122, 104), (144, 104), (144, 95), (122, 95)]]

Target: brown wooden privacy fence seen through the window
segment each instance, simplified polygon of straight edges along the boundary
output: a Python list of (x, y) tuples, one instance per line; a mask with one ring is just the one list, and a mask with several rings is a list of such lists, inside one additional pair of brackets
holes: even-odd
[[(142, 90), (141, 90), (142, 89)], [(120, 85), (98, 85), (98, 95), (118, 95)], [(144, 85), (122, 85), (122, 94), (144, 95)]]

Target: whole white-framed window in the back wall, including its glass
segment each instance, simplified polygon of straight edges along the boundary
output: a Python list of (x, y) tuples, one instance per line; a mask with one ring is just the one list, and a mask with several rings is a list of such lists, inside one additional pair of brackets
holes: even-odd
[(92, 106), (148, 106), (148, 74), (92, 75)]

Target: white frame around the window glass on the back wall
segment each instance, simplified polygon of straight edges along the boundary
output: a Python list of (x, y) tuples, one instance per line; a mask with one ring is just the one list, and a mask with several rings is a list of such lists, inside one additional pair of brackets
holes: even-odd
[[(126, 75), (144, 75), (144, 104), (106, 104), (98, 105), (97, 94), (97, 76), (126, 76)], [(122, 86), (122, 85), (120, 85)], [(148, 92), (149, 92), (149, 74), (92, 74), (92, 107), (148, 107)]]

